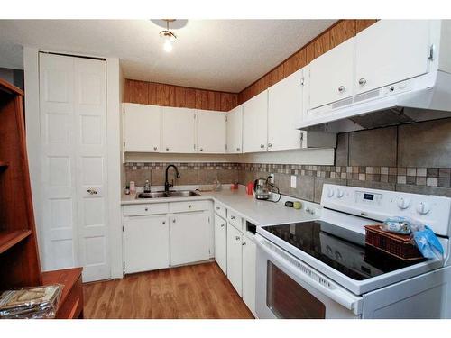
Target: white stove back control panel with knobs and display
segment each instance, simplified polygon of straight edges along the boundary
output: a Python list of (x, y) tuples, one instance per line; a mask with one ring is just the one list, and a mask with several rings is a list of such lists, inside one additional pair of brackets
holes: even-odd
[(409, 217), (428, 224), (437, 234), (451, 235), (449, 197), (325, 184), (321, 206), (381, 222), (392, 216)]

